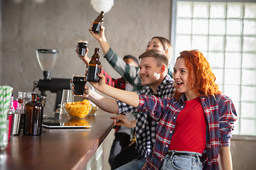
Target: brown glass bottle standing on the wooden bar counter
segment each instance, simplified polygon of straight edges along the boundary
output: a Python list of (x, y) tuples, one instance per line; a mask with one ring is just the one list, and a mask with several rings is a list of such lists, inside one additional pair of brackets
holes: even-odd
[(38, 94), (32, 93), (32, 100), (25, 105), (23, 135), (41, 135), (43, 123), (43, 104), (38, 101)]

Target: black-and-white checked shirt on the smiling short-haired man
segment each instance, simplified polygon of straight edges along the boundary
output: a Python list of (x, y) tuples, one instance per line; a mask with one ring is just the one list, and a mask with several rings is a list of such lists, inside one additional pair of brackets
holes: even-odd
[[(164, 81), (162, 81), (161, 84), (156, 88), (157, 95), (154, 94), (149, 86), (144, 86), (139, 94), (154, 95), (160, 98), (169, 97), (174, 92), (173, 84), (174, 80), (167, 75)], [(121, 101), (117, 101), (117, 103), (119, 106), (119, 114), (137, 111), (136, 108), (129, 106), (126, 103), (122, 103)], [(158, 122), (156, 122), (156, 120), (152, 119), (150, 116), (142, 113), (137, 115), (137, 125), (135, 128), (138, 153), (137, 159), (147, 157), (153, 149), (156, 142), (157, 125)]]

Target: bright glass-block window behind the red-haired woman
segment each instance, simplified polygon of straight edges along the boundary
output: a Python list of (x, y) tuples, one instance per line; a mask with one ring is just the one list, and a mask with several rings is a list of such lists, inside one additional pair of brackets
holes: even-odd
[(256, 135), (256, 1), (174, 0), (171, 22), (174, 56), (200, 50), (233, 100), (233, 135)]

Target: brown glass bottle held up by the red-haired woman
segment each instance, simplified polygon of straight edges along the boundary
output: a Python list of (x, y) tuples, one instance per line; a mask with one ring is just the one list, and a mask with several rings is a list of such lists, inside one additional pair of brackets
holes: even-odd
[(88, 65), (87, 81), (100, 81), (100, 77), (97, 75), (101, 73), (102, 64), (100, 62), (100, 48), (95, 47), (95, 53), (92, 55), (92, 59)]

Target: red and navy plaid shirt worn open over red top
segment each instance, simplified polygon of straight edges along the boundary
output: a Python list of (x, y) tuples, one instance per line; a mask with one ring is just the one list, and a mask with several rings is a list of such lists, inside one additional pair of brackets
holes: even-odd
[[(148, 113), (159, 121), (156, 133), (156, 144), (147, 157), (146, 169), (160, 169), (166, 156), (171, 137), (174, 135), (176, 118), (185, 107), (185, 95), (178, 102), (175, 98), (156, 98), (155, 96), (140, 96), (139, 114)], [(235, 106), (228, 96), (217, 94), (201, 97), (203, 112), (207, 119), (206, 149), (201, 157), (203, 169), (219, 169), (218, 149), (230, 146), (231, 130), (237, 120)]]

